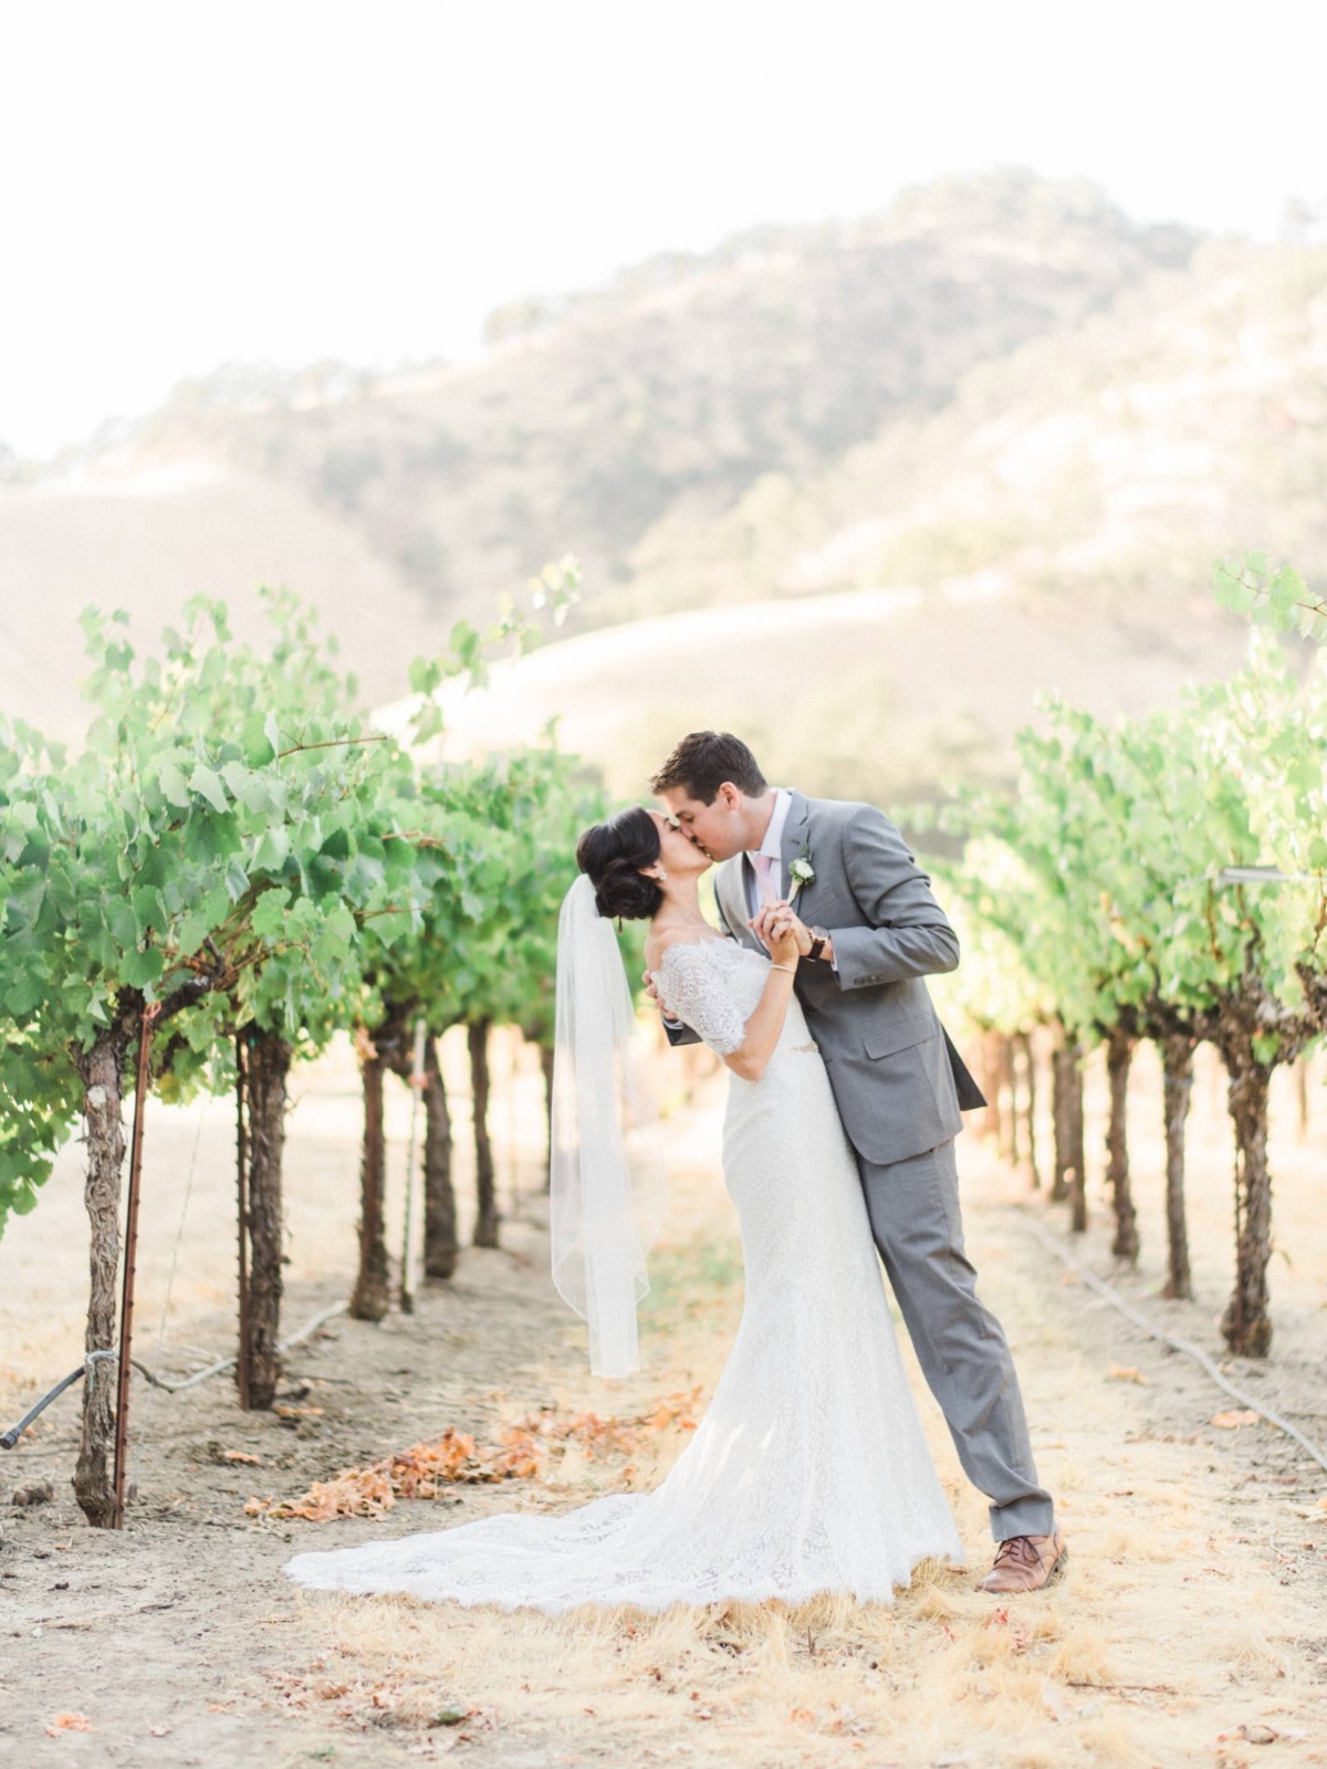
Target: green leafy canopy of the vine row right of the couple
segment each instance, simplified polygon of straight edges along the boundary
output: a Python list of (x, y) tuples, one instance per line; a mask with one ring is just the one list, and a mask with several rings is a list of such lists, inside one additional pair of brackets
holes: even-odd
[[(1032, 991), (1085, 1040), (1217, 1035), (1240, 1003), (1256, 1061), (1295, 1054), (1327, 961), (1327, 669), (1299, 681), (1256, 632), (1242, 670), (1173, 711), (1040, 706), (1016, 794), (968, 793), (945, 819), (970, 839), (952, 888), (1026, 969), (987, 1022), (1021, 1030)], [(1269, 884), (1228, 876), (1256, 867)]]

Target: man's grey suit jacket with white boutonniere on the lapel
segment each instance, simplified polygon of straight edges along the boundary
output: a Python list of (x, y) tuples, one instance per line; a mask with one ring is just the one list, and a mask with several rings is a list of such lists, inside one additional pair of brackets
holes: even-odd
[[(802, 959), (794, 987), (830, 1074), (844, 1130), (863, 1160), (886, 1166), (947, 1141), (986, 1097), (940, 1024), (924, 978), (952, 971), (959, 939), (890, 819), (874, 805), (793, 793), (782, 862), (805, 851), (816, 877), (794, 907), (833, 936), (837, 973)], [(715, 893), (729, 932), (766, 953), (747, 927), (745, 854), (725, 860)], [(690, 1026), (672, 1044), (695, 1044)]]

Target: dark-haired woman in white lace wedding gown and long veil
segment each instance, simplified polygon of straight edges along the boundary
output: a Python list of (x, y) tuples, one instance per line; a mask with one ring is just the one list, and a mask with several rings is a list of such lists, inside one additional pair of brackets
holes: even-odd
[(612, 918), (649, 918), (658, 994), (727, 1063), (724, 1178), (745, 1306), (695, 1435), (651, 1493), (563, 1516), (520, 1511), (449, 1530), (299, 1553), (320, 1590), (410, 1592), (559, 1613), (580, 1603), (894, 1601), (925, 1557), (963, 1546), (908, 1387), (851, 1143), (793, 994), (779, 907), (770, 959), (717, 934), (708, 856), (644, 807), (586, 830), (557, 941), (554, 1279), (589, 1323), (591, 1364), (639, 1366), (635, 1306), (660, 1182), (632, 1076), (632, 1003)]

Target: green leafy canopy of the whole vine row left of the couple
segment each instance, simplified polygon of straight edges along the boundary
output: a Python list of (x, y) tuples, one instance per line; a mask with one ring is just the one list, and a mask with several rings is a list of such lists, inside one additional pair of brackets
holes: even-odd
[[(554, 617), (575, 575), (545, 568)], [(573, 762), (548, 745), (421, 775), (364, 727), (313, 614), (264, 594), (265, 649), (195, 598), (140, 658), (124, 614), (88, 609), (87, 748), (0, 727), (0, 1228), (78, 1118), (80, 1058), (113, 1033), (126, 1060), (143, 1014), (179, 1099), (230, 1083), (239, 1026), (311, 1054), (405, 998), (435, 1030), (479, 1012), (534, 1026), (552, 989), (589, 803)], [(494, 644), (534, 637), (508, 605), (416, 679), (481, 678)]]

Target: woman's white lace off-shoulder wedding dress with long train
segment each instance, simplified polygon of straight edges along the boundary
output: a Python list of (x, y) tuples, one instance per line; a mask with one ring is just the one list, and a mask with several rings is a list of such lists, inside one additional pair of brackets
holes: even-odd
[[(669, 946), (656, 976), (669, 1007), (727, 1054), (768, 961), (715, 938)], [(853, 1150), (796, 996), (761, 1079), (731, 1076), (724, 1176), (741, 1224), (741, 1325), (704, 1419), (655, 1491), (299, 1553), (285, 1571), (320, 1590), (557, 1613), (821, 1590), (892, 1603), (920, 1558), (961, 1562)]]

